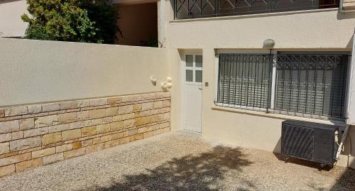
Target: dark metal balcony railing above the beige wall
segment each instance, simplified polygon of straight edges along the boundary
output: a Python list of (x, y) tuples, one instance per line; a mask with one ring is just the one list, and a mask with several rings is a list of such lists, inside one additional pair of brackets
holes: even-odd
[(174, 0), (175, 19), (339, 7), (339, 0)]

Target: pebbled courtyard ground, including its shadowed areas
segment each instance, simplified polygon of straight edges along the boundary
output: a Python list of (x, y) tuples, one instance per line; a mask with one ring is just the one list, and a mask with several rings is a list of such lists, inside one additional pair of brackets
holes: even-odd
[(355, 190), (355, 170), (278, 158), (165, 133), (1, 178), (0, 190)]

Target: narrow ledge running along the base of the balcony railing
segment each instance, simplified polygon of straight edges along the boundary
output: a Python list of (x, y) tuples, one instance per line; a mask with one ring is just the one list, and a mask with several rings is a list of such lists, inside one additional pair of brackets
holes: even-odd
[(194, 21), (216, 21), (216, 20), (229, 20), (229, 19), (239, 19), (239, 18), (258, 18), (267, 16), (283, 16), (283, 15), (293, 15), (299, 13), (317, 13), (326, 11), (338, 11), (339, 8), (329, 8), (329, 9), (312, 9), (312, 10), (302, 10), (302, 11), (285, 11), (276, 13), (256, 13), (249, 15), (237, 15), (237, 16), (217, 16), (217, 17), (207, 17), (207, 18), (186, 18), (180, 20), (172, 20), (170, 23), (187, 23)]

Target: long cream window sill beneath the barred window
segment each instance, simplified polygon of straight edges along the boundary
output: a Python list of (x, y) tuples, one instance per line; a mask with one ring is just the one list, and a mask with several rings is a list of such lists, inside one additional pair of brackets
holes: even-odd
[(227, 112), (233, 112), (233, 113), (239, 113), (239, 114), (248, 114), (248, 115), (253, 115), (253, 116), (265, 116), (265, 117), (270, 117), (270, 118), (274, 118), (274, 119), (297, 120), (297, 121), (313, 122), (313, 123), (318, 123), (318, 124), (346, 126), (346, 124), (342, 121), (309, 119), (309, 118), (303, 118), (300, 116), (287, 116), (287, 115), (282, 115), (282, 114), (271, 114), (271, 113), (266, 113), (263, 111), (251, 111), (251, 110), (247, 110), (247, 109), (227, 108), (227, 107), (220, 107), (220, 106), (216, 106), (216, 105), (212, 106), (212, 110), (227, 111)]

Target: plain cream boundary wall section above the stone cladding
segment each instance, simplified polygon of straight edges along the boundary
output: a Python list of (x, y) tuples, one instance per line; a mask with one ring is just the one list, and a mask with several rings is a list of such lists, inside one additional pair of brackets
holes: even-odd
[(0, 106), (158, 92), (168, 77), (166, 55), (163, 48), (0, 38)]

